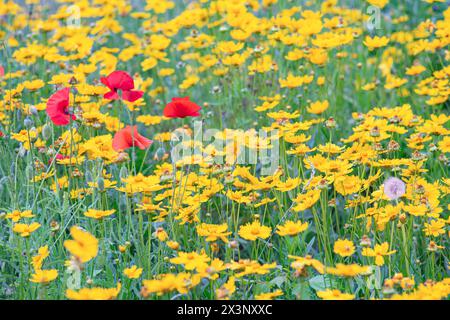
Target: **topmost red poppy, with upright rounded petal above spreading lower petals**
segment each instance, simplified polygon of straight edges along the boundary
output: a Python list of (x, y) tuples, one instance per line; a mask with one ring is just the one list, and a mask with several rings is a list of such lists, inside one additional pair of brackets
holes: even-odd
[(106, 78), (100, 78), (100, 81), (111, 90), (103, 96), (108, 100), (120, 99), (118, 90), (122, 91), (122, 99), (129, 102), (134, 102), (144, 95), (143, 91), (133, 90), (133, 78), (125, 71), (113, 71)]

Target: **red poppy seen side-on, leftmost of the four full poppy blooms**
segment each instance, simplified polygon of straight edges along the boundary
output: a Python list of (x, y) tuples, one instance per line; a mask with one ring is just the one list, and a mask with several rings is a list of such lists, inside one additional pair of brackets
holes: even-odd
[(64, 88), (56, 91), (47, 101), (47, 114), (57, 126), (68, 125), (70, 118), (76, 119), (75, 115), (68, 111), (69, 94), (70, 88)]

